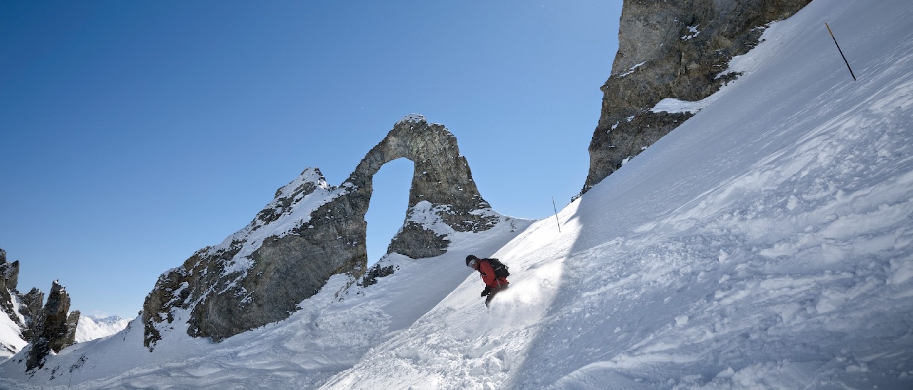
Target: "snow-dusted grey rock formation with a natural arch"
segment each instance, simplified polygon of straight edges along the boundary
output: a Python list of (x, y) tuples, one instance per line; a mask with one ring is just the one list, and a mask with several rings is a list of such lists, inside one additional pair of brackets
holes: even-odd
[(221, 245), (203, 248), (163, 274), (143, 304), (145, 345), (175, 321), (187, 333), (220, 341), (283, 320), (337, 274), (352, 280), (367, 268), (364, 215), (373, 175), (384, 163), (415, 164), (404, 227), (391, 252), (410, 258), (446, 252), (449, 235), (493, 227), (498, 215), (478, 194), (456, 137), (440, 124), (409, 115), (394, 125), (340, 186), (306, 169), (276, 199)]

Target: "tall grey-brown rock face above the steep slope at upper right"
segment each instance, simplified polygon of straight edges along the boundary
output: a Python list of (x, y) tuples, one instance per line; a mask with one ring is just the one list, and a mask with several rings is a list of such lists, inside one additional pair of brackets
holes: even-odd
[(707, 98), (738, 76), (722, 73), (729, 59), (758, 44), (763, 26), (810, 2), (625, 0), (582, 192), (693, 115), (650, 111), (659, 100)]

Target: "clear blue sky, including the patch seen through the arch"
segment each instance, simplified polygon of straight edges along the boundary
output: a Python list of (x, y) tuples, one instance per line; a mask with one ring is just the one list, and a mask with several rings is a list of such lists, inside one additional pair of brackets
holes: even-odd
[[(132, 318), (164, 271), (305, 167), (341, 184), (405, 114), (454, 132), (502, 214), (585, 180), (621, 1), (0, 3), (0, 248), (18, 290)], [(376, 261), (412, 164), (384, 165)]]

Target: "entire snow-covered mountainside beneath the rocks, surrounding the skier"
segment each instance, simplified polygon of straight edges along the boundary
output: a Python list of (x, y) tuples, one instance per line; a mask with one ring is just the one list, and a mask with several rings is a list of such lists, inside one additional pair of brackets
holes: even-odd
[[(20, 353), (0, 388), (913, 388), (913, 2), (814, 0), (764, 38), (736, 82), (657, 107), (701, 111), (561, 232), (514, 221), (385, 258), (377, 284), (333, 277), (223, 343), (149, 353), (134, 320), (32, 377)], [(490, 312), (467, 253), (511, 266)]]

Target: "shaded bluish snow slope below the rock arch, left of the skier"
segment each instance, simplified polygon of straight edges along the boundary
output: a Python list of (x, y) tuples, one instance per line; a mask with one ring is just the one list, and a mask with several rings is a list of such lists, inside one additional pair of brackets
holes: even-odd
[(403, 332), (470, 275), (466, 250), (490, 256), (530, 226), (501, 216), (479, 233), (455, 233), (451, 251), (437, 258), (399, 255), (378, 264), (393, 275), (368, 287), (332, 277), (288, 320), (230, 337), (222, 343), (186, 335), (187, 313), (176, 311), (174, 329), (153, 353), (142, 346), (142, 318), (121, 332), (78, 343), (50, 356), (46, 369), (25, 373), (19, 353), (0, 364), (3, 388), (316, 388), (357, 363), (370, 348)]

